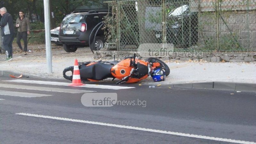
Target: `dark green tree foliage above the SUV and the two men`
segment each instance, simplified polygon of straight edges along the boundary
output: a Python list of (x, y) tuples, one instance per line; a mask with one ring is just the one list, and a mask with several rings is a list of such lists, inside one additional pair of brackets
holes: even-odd
[[(102, 0), (49, 0), (49, 3), (51, 12), (54, 12), (55, 23), (59, 26), (65, 15), (73, 12), (77, 7), (83, 5), (89, 7), (92, 5), (102, 5), (100, 3), (101, 1)], [(7, 12), (12, 15), (14, 22), (16, 22), (16, 19), (19, 17), (20, 10), (23, 10), (25, 17), (29, 17), (30, 20), (32, 18), (31, 14), (36, 14), (40, 16), (39, 21), (44, 22), (44, 0), (5, 0), (4, 5), (0, 5), (0, 7), (7, 9)]]

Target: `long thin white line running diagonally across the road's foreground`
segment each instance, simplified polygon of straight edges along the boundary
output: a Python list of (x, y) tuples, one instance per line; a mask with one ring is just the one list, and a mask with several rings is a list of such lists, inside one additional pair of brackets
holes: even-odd
[(86, 124), (96, 124), (96, 125), (112, 126), (112, 127), (118, 127), (118, 128), (125, 128), (125, 129), (132, 129), (132, 130), (139, 130), (139, 131), (146, 131), (146, 132), (164, 133), (164, 134), (178, 135), (178, 136), (198, 138), (198, 139), (206, 139), (206, 140), (225, 141), (225, 142), (233, 142), (233, 143), (241, 143), (241, 144), (256, 144), (256, 142), (250, 142), (250, 141), (231, 140), (231, 139), (224, 139), (224, 138), (215, 138), (215, 137), (195, 135), (195, 134), (188, 134), (188, 133), (169, 132), (169, 131), (162, 131), (162, 130), (154, 130), (154, 129), (126, 126), (126, 125), (100, 123), (100, 122), (93, 122), (93, 121), (85, 121), (85, 120), (78, 120), (78, 119), (63, 118), (63, 117), (44, 116), (44, 115), (27, 114), (27, 113), (17, 113), (16, 115), (42, 117), (42, 118), (49, 118), (49, 119), (56, 119), (56, 120), (63, 120), (63, 121), (71, 121), (71, 122), (79, 122), (79, 123), (86, 123)]

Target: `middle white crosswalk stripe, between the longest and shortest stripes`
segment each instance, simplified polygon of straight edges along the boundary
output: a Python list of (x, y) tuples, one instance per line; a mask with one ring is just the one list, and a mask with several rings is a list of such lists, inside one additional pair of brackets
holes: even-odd
[(38, 86), (15, 85), (15, 84), (0, 84), (0, 87), (26, 89), (26, 90), (37, 90), (37, 91), (48, 91), (48, 92), (67, 92), (67, 93), (95, 92), (95, 91), (86, 91), (86, 90), (61, 89), (61, 88), (52, 88), (52, 87), (38, 87)]

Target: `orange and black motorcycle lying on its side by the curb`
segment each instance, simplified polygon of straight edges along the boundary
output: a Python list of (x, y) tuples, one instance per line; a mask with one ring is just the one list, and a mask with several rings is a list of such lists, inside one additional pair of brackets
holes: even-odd
[[(157, 58), (148, 58), (140, 60), (133, 57), (126, 57), (122, 61), (96, 61), (96, 62), (78, 62), (80, 78), (82, 81), (100, 81), (106, 78), (119, 79), (116, 84), (135, 83), (140, 80), (152, 76), (154, 70), (161, 68), (165, 76), (170, 74), (169, 67)], [(72, 81), (74, 66), (63, 70), (63, 77)], [(72, 76), (67, 76), (68, 71), (72, 72)], [(163, 77), (161, 77), (163, 79)]]

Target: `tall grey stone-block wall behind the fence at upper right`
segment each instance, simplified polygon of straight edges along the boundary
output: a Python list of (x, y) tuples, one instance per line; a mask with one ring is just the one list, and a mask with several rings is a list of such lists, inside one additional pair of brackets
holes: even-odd
[[(246, 10), (221, 12), (222, 18), (219, 19), (220, 51), (256, 51), (255, 12), (255, 10), (250, 10), (249, 13)], [(205, 41), (211, 41), (210, 45), (215, 47), (218, 32), (215, 12), (202, 12), (198, 17), (199, 45), (204, 47)]]

